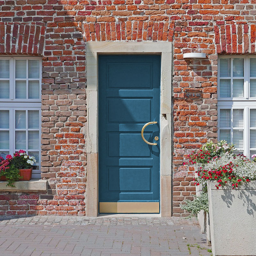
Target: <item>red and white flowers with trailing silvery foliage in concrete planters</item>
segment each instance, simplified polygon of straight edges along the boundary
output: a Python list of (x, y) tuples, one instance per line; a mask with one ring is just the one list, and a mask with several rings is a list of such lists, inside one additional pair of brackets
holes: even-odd
[(181, 204), (182, 209), (191, 213), (189, 217), (201, 210), (207, 212), (207, 180), (218, 182), (217, 189), (226, 184), (235, 189), (242, 183), (256, 180), (256, 155), (252, 156), (253, 161), (250, 161), (243, 155), (234, 155), (234, 149), (234, 145), (228, 144), (225, 140), (217, 144), (210, 141), (189, 155), (190, 164), (202, 164), (196, 170), (198, 177), (194, 178), (196, 186), (202, 185), (201, 194), (193, 196), (192, 202), (185, 200)]

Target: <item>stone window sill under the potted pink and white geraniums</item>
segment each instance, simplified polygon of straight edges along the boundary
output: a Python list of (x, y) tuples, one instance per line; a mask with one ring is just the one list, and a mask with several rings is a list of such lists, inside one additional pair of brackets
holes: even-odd
[(6, 186), (7, 181), (0, 182), (0, 191), (47, 191), (47, 180), (31, 179), (29, 181), (16, 181), (15, 187)]

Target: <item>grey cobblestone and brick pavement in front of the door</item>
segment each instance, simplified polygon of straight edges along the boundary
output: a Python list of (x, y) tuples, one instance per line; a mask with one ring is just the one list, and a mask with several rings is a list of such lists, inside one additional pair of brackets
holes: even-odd
[(211, 256), (196, 220), (0, 217), (1, 256)]

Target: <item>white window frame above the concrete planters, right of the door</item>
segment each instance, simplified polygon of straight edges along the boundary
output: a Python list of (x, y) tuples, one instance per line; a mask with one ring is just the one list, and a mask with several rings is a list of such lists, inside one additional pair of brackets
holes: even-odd
[[(221, 79), (230, 79), (231, 78), (231, 95), (233, 93), (233, 83), (232, 83), (232, 75), (233, 75), (233, 59), (240, 58), (244, 59), (244, 97), (229, 97), (229, 98), (220, 98), (220, 59), (228, 59), (231, 58), (231, 77), (221, 77)], [(241, 56), (241, 55), (223, 55), (218, 56), (218, 139), (220, 139), (220, 109), (230, 109), (230, 141), (233, 141), (233, 109), (244, 109), (244, 155), (250, 157), (250, 150), (256, 151), (256, 148), (250, 148), (250, 109), (256, 109), (256, 97), (250, 97), (250, 79), (256, 79), (256, 77), (250, 77), (250, 58), (256, 58), (255, 55), (252, 56)], [(242, 77), (236, 77), (236, 79), (242, 79)], [(225, 129), (225, 127), (221, 127)], [(234, 128), (240, 129), (240, 128)], [(240, 129), (242, 130), (242, 128)], [(256, 129), (254, 129), (256, 130)]]

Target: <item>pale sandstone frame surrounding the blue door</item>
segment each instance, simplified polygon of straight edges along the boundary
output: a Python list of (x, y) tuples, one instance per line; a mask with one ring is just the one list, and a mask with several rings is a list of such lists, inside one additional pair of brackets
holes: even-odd
[(172, 215), (172, 43), (171, 42), (87, 42), (87, 183), (86, 216), (99, 213), (98, 161), (98, 55), (160, 54), (160, 214)]

